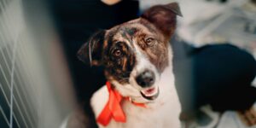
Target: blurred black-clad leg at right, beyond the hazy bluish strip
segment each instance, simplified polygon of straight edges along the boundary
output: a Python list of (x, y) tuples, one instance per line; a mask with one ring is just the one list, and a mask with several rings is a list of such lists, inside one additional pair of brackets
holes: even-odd
[(230, 44), (209, 45), (193, 56), (195, 108), (210, 103), (219, 111), (250, 108), (256, 101), (251, 86), (256, 74), (252, 55)]

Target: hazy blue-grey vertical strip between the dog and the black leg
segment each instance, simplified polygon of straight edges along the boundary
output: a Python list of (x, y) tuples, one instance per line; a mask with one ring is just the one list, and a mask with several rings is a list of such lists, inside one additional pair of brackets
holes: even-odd
[(173, 50), (173, 73), (177, 95), (183, 111), (195, 109), (195, 91), (192, 86), (192, 57), (191, 51), (195, 48), (180, 41), (174, 36), (171, 40)]

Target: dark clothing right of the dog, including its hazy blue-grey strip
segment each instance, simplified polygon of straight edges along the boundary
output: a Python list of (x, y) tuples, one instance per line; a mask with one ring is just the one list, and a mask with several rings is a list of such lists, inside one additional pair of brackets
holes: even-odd
[(218, 111), (246, 109), (256, 100), (251, 83), (256, 75), (253, 55), (230, 44), (193, 48), (172, 40), (173, 69), (184, 111), (211, 104)]

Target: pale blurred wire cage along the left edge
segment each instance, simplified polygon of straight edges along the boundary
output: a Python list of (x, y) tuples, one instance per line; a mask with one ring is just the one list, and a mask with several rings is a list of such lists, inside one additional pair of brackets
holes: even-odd
[[(72, 82), (44, 4), (25, 3), (0, 1), (0, 127), (58, 127)], [(68, 95), (65, 102), (59, 94)]]

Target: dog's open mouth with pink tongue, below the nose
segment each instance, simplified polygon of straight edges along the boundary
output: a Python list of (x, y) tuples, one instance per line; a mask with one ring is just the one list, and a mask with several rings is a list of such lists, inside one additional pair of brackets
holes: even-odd
[(159, 96), (160, 90), (158, 87), (151, 87), (148, 89), (141, 90), (140, 92), (145, 99), (153, 101)]

